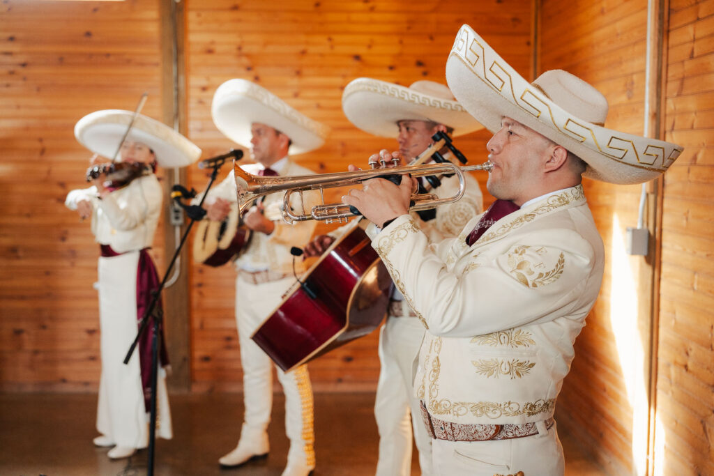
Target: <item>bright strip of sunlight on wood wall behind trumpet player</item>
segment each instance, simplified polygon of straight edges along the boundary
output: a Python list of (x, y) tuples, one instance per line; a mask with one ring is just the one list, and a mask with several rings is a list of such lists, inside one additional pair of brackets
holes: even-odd
[(635, 271), (625, 251), (625, 233), (618, 214), (613, 215), (612, 283), (610, 288), (610, 323), (618, 348), (618, 358), (628, 401), (633, 412), (632, 456), (635, 474), (646, 471), (648, 400), (642, 340), (638, 332), (638, 295)]

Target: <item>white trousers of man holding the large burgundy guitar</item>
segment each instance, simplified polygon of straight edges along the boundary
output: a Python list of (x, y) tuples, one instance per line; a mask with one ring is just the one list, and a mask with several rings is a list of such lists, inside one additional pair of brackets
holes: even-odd
[(424, 332), (417, 318), (388, 317), (379, 335), (381, 369), (374, 404), (379, 430), (377, 476), (411, 475), (412, 430), (421, 474), (433, 474), (431, 438), (421, 419), (412, 378)]

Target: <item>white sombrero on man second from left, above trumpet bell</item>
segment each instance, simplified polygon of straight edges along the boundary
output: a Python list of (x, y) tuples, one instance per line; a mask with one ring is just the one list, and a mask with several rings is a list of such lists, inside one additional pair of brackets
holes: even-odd
[(329, 128), (268, 91), (245, 79), (230, 79), (218, 86), (211, 106), (218, 131), (243, 147), (251, 146), (251, 124), (262, 123), (290, 138), (290, 153), (305, 153), (325, 143)]

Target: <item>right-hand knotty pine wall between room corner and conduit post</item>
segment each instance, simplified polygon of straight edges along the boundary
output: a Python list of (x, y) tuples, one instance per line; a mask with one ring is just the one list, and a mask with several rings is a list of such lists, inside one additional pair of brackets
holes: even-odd
[[(610, 103), (605, 126), (643, 133), (647, 2), (544, 0), (540, 17), (539, 67), (565, 69), (598, 88)], [(567, 24), (568, 28), (563, 28)], [(575, 342), (575, 359), (558, 397), (558, 424), (578, 435), (608, 471), (630, 474), (634, 468), (633, 402), (628, 389), (632, 365), (620, 362), (617, 328), (636, 315), (621, 315), (616, 287), (625, 262), (636, 280), (637, 258), (623, 253), (625, 227), (636, 226), (640, 186), (584, 181), (585, 196), (605, 244), (605, 277), (600, 297)], [(615, 264), (617, 267), (615, 268)], [(614, 286), (614, 287), (613, 287)], [(636, 313), (635, 313), (636, 314)], [(628, 335), (647, 348), (649, 335)], [(646, 354), (645, 354), (646, 355)], [(645, 360), (645, 364), (647, 360)], [(643, 370), (640, 370), (642, 372)], [(641, 375), (641, 373), (640, 373)]]

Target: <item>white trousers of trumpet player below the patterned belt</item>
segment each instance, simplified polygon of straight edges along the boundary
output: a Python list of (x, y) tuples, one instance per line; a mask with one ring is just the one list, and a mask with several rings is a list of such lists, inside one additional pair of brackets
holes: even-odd
[(565, 461), (556, 425), (545, 435), (513, 440), (452, 442), (432, 440), (437, 476), (563, 476)]

